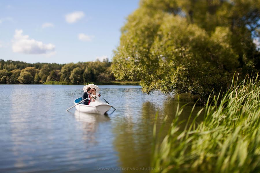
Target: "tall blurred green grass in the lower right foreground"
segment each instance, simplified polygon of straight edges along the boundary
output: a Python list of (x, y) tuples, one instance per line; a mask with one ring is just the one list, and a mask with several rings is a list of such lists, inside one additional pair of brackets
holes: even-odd
[(258, 78), (257, 74), (239, 84), (233, 78), (225, 95), (213, 93), (214, 100), (207, 101), (203, 121), (195, 121), (202, 109), (184, 131), (178, 131), (183, 110), (178, 107), (162, 142), (156, 141), (155, 124), (151, 166), (162, 170), (153, 172), (260, 172)]

